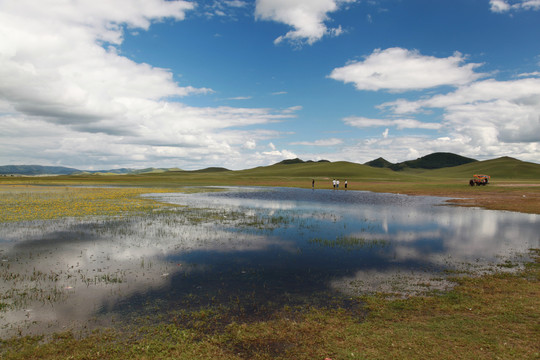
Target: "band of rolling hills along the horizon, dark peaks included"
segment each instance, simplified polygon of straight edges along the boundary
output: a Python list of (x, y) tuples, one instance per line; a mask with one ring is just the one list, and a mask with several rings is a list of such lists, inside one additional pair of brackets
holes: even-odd
[[(401, 171), (395, 171), (399, 169)], [(0, 166), (0, 175), (163, 175), (167, 178), (177, 176), (212, 175), (224, 180), (234, 178), (264, 178), (264, 177), (318, 177), (318, 178), (356, 178), (374, 180), (414, 180), (415, 177), (460, 178), (469, 179), (473, 174), (484, 173), (498, 179), (540, 179), (540, 164), (520, 161), (510, 157), (477, 161), (452, 153), (434, 153), (422, 158), (392, 164), (378, 158), (366, 164), (347, 161), (330, 162), (303, 161), (288, 159), (279, 163), (260, 166), (252, 169), (232, 171), (222, 167), (210, 167), (200, 170), (186, 171), (178, 168), (170, 169), (113, 169), (101, 171), (81, 171), (67, 167), (38, 166), (38, 165), (8, 165)], [(217, 179), (217, 178), (216, 178)]]

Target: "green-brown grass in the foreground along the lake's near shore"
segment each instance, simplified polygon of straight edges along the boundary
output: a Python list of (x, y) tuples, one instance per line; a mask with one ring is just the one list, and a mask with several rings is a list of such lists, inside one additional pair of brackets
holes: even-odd
[[(457, 279), (452, 291), (388, 300), (366, 297), (365, 312), (285, 307), (267, 321), (216, 326), (217, 315), (103, 330), (76, 339), (16, 338), (3, 359), (538, 359), (540, 251), (518, 274)], [(184, 324), (184, 325), (182, 325)]]

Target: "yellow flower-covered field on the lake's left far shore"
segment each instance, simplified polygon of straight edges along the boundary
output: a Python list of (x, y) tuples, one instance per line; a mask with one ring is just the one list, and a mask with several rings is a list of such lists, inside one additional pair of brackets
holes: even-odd
[(141, 194), (170, 191), (178, 190), (0, 185), (0, 222), (149, 211), (163, 205)]

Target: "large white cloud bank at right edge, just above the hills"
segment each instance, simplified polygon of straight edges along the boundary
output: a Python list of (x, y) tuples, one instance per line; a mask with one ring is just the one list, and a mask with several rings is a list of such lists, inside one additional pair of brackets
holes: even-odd
[(443, 111), (443, 125), (451, 139), (469, 155), (540, 158), (540, 79), (493, 79), (462, 86), (448, 94), (417, 101), (398, 100), (381, 107), (395, 114)]

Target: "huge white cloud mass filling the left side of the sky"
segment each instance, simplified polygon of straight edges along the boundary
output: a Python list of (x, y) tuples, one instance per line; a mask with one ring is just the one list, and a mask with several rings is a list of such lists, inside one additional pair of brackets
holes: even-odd
[(282, 121), (299, 108), (186, 106), (182, 97), (212, 90), (180, 85), (170, 70), (118, 50), (127, 28), (181, 21), (194, 7), (181, 0), (0, 2), (4, 161), (24, 163), (24, 154), (33, 152), (49, 159), (43, 163), (83, 167), (147, 166), (158, 159), (241, 164), (245, 139), (268, 136), (239, 127)]

